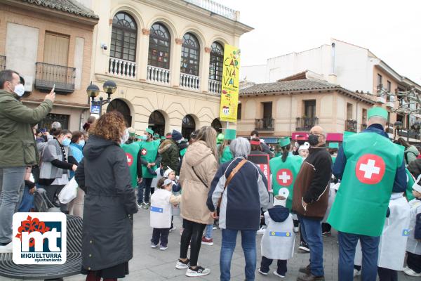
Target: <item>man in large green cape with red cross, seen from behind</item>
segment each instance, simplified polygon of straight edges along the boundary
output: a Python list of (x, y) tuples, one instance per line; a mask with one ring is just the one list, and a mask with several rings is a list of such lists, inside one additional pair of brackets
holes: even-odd
[(405, 192), (403, 148), (385, 133), (388, 112), (368, 110), (368, 127), (347, 136), (333, 166), (341, 179), (328, 223), (338, 230), (339, 280), (351, 281), (358, 240), (363, 251), (362, 280), (376, 280), (380, 235), (392, 192)]

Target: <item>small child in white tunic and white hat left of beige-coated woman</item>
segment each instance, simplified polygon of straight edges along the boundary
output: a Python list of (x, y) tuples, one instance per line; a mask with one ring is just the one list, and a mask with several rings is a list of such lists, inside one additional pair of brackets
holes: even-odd
[(157, 190), (151, 196), (150, 226), (152, 232), (152, 248), (158, 247), (164, 251), (168, 248), (168, 234), (171, 227), (171, 205), (180, 204), (181, 195), (174, 196), (171, 192), (173, 181), (170, 178), (160, 178), (156, 184)]

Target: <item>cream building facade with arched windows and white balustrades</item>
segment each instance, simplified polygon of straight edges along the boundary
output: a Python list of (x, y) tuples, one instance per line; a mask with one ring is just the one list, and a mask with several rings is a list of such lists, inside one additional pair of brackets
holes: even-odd
[(119, 110), (138, 133), (149, 126), (188, 137), (203, 125), (222, 128), (224, 45), (238, 46), (252, 30), (239, 12), (210, 0), (80, 1), (100, 17), (91, 79), (117, 84), (103, 112)]

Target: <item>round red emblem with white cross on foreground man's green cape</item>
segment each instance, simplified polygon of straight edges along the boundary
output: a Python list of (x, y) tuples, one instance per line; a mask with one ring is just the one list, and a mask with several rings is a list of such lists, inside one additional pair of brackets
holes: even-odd
[(355, 174), (361, 183), (376, 184), (385, 175), (386, 164), (382, 157), (374, 154), (361, 156), (356, 162)]

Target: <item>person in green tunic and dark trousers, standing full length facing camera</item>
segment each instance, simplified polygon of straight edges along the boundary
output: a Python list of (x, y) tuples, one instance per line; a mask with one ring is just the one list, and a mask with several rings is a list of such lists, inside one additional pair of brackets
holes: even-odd
[[(138, 190), (138, 206), (141, 209), (149, 209), (149, 196), (153, 192), (151, 190), (152, 179), (156, 177), (154, 171), (159, 166), (161, 159), (158, 154), (159, 142), (154, 141), (154, 131), (145, 129), (146, 140), (138, 143), (139, 153), (138, 161), (142, 164), (142, 183)], [(144, 137), (144, 138), (145, 138)], [(145, 195), (143, 194), (145, 190)]]

